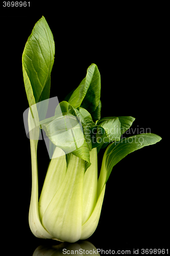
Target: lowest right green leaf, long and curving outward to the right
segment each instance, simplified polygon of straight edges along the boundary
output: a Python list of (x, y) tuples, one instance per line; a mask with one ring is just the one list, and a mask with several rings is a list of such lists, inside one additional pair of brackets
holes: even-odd
[[(117, 164), (120, 160), (126, 157), (131, 152), (139, 150), (140, 148), (148, 145), (155, 144), (156, 142), (160, 141), (161, 137), (156, 134), (138, 134), (135, 136), (131, 136), (128, 138), (123, 138), (119, 142), (111, 143), (105, 151), (101, 174), (99, 178), (100, 189), (107, 182), (112, 168), (115, 164)], [(100, 191), (99, 191), (100, 192)]]

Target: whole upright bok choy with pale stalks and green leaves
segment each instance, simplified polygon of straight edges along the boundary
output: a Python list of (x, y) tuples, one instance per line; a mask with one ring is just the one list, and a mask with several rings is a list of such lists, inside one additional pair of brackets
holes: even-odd
[[(113, 166), (131, 152), (155, 144), (161, 138), (155, 134), (139, 134), (121, 139), (134, 118), (101, 119), (101, 77), (95, 64), (87, 69), (78, 88), (56, 106), (55, 116), (45, 119), (45, 110), (39, 109), (36, 103), (50, 97), (54, 52), (52, 32), (42, 17), (22, 55), (23, 79), (30, 105), (32, 196), (29, 224), (38, 238), (76, 242), (90, 237), (98, 225), (106, 182)], [(55, 150), (38, 203), (39, 127)], [(97, 154), (108, 144), (98, 179)]]

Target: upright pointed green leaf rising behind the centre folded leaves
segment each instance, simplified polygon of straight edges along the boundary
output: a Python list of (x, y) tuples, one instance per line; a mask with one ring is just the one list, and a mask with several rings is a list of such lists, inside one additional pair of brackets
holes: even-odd
[(74, 108), (80, 105), (88, 112), (92, 113), (98, 109), (100, 111), (100, 96), (101, 96), (101, 76), (98, 67), (91, 64), (87, 69), (86, 77), (81, 81), (79, 87), (71, 94), (69, 93), (65, 99), (68, 100)]

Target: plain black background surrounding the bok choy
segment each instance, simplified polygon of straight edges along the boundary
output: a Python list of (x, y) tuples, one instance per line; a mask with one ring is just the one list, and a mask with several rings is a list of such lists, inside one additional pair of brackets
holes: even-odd
[[(6, 221), (10, 230), (7, 237), (12, 233), (14, 250), (22, 255), (32, 255), (39, 245), (59, 244), (35, 238), (28, 224), (31, 155), (22, 113), (29, 105), (21, 57), (35, 23), (43, 15), (56, 47), (51, 97), (57, 96), (62, 101), (86, 76), (90, 64), (95, 63), (101, 73), (101, 117), (133, 116), (135, 134), (150, 128), (151, 133), (162, 137), (159, 143), (128, 155), (114, 166), (106, 185), (99, 225), (88, 241), (105, 250), (166, 249), (169, 167), (165, 164), (165, 140), (168, 140), (166, 15), (162, 15), (165, 8), (122, 5), (105, 9), (103, 5), (99, 8), (90, 3), (77, 7), (46, 3), (37, 8), (31, 2), (30, 8), (2, 8), (2, 127), (3, 123), (6, 126), (2, 134), (7, 138), (4, 218), (8, 219), (8, 213), (11, 215), (10, 223)], [(103, 154), (99, 155), (99, 170)], [(44, 142), (39, 141), (39, 189), (48, 161)]]

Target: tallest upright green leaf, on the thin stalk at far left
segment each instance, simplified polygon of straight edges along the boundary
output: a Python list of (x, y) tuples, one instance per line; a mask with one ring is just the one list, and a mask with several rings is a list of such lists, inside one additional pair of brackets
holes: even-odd
[(53, 34), (42, 16), (33, 28), (22, 54), (23, 80), (30, 106), (50, 97), (54, 54)]

